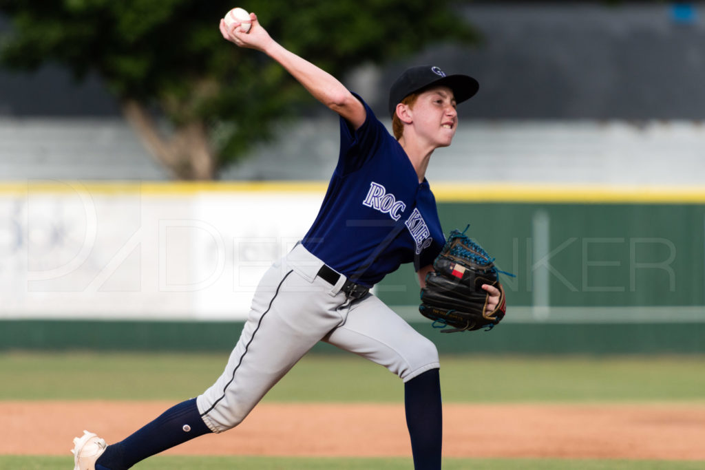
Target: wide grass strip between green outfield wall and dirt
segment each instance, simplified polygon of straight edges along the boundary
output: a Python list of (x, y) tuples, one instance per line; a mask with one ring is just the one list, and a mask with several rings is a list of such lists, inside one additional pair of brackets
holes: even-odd
[[(0, 400), (181, 400), (227, 354), (0, 354)], [(443, 357), (445, 402), (705, 401), (705, 357)], [(165, 384), (168, 384), (165, 385)], [(398, 402), (403, 387), (350, 355), (305, 357), (264, 400)]]

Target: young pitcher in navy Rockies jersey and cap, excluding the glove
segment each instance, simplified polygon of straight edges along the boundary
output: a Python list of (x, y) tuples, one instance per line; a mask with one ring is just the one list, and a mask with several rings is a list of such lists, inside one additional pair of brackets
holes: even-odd
[[(197, 436), (238, 426), (321, 340), (402, 379), (415, 469), (440, 469), (438, 351), (369, 289), (411, 262), (424, 285), (445, 242), (424, 173), (434, 149), (453, 140), (455, 106), (477, 92), (477, 82), (431, 66), (406, 70), (391, 87), (391, 136), (362, 98), (271, 39), (254, 13), (250, 18), (249, 32), (221, 20), (223, 37), (273, 58), (341, 117), (340, 153), (324, 202), (302, 241), (264, 274), (212, 387), (113, 445), (85, 431), (74, 439), (75, 470), (128, 469)], [(499, 291), (483, 288), (494, 308)]]

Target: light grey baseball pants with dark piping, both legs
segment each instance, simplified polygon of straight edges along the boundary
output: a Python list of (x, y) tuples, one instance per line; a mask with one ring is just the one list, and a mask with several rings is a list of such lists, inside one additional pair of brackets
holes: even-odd
[(299, 244), (262, 277), (225, 371), (197, 397), (215, 433), (238, 426), (318, 341), (360, 354), (409, 381), (439, 367), (433, 342), (372, 294), (351, 300), (317, 277), (324, 262)]

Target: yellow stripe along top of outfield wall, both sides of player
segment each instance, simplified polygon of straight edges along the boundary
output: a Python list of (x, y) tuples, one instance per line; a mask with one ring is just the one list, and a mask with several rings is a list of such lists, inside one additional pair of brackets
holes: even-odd
[[(156, 181), (39, 181), (0, 182), (0, 194), (28, 192), (90, 194), (163, 194), (184, 196), (203, 192), (314, 193), (321, 197), (323, 181), (156, 182)], [(435, 183), (438, 202), (507, 202), (551, 204), (705, 204), (703, 186), (558, 185), (510, 183)]]

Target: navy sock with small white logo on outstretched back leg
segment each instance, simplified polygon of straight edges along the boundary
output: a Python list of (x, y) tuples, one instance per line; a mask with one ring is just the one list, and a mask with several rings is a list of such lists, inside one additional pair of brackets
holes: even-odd
[(96, 470), (127, 470), (140, 460), (212, 431), (203, 422), (192, 398), (166, 410), (119, 443), (109, 445)]

